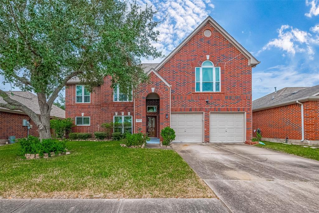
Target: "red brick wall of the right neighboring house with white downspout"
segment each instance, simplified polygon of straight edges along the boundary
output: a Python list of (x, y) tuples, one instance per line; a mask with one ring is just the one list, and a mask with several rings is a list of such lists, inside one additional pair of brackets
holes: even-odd
[[(304, 138), (319, 141), (319, 101), (304, 105)], [(298, 103), (253, 112), (253, 129), (264, 138), (301, 140), (301, 106)]]

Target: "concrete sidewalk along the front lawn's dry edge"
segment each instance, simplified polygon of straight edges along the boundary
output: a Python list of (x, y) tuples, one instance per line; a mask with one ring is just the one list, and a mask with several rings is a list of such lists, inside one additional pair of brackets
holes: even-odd
[(216, 198), (0, 199), (0, 212), (228, 213), (228, 210)]

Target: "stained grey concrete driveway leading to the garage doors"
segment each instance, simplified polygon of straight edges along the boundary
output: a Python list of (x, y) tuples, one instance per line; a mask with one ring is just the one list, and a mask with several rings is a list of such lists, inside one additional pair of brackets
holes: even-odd
[(319, 212), (319, 162), (246, 144), (173, 144), (231, 212)]

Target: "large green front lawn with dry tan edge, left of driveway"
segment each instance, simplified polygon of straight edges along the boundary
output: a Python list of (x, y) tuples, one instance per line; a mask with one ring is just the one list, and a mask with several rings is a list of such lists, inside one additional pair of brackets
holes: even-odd
[(70, 155), (21, 159), (0, 146), (0, 198), (209, 198), (211, 189), (174, 150), (70, 141)]

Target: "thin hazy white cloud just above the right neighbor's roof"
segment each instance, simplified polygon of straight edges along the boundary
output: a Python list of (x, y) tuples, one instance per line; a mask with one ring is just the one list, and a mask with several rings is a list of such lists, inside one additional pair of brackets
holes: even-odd
[(263, 71), (253, 72), (253, 100), (274, 92), (274, 87), (311, 87), (319, 84), (318, 72), (302, 72), (295, 65), (277, 65)]

